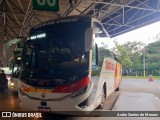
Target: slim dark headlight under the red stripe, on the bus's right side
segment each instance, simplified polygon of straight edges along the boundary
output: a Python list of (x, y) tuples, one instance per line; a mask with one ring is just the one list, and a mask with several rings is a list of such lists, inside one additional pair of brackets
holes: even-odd
[(71, 97), (71, 98), (74, 98), (74, 97), (77, 97), (77, 96), (79, 96), (79, 95), (84, 94), (84, 93), (88, 90), (88, 88), (90, 88), (90, 86), (91, 86), (91, 83), (89, 83), (87, 86), (85, 86), (85, 87), (82, 88), (81, 90), (79, 90), (79, 91), (71, 94), (70, 97)]

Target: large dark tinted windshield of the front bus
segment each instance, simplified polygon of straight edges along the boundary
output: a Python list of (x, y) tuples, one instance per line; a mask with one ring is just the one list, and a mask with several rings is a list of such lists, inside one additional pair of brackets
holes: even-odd
[(84, 49), (88, 27), (77, 22), (31, 31), (24, 57), (26, 77), (67, 79), (88, 74), (89, 53)]

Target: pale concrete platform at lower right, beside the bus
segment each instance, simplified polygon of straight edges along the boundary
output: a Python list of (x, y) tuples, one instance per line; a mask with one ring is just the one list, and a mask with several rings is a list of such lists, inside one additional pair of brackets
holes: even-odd
[(160, 111), (160, 100), (154, 94), (122, 92), (113, 111)]

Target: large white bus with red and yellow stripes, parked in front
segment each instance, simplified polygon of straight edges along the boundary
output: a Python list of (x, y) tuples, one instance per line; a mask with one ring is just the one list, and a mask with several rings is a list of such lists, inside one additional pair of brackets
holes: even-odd
[(34, 26), (22, 51), (20, 107), (50, 112), (103, 108), (122, 80), (119, 53), (108, 37), (90, 16)]

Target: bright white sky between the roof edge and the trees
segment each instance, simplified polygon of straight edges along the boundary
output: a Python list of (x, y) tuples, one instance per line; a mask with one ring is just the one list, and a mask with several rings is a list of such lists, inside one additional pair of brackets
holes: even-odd
[(148, 43), (154, 42), (153, 36), (160, 33), (160, 21), (150, 24), (148, 26), (141, 27), (139, 29), (127, 32), (125, 34), (119, 35), (117, 37), (112, 38), (116, 40), (118, 44), (124, 44), (127, 41), (141, 41), (144, 42), (146, 45)]

